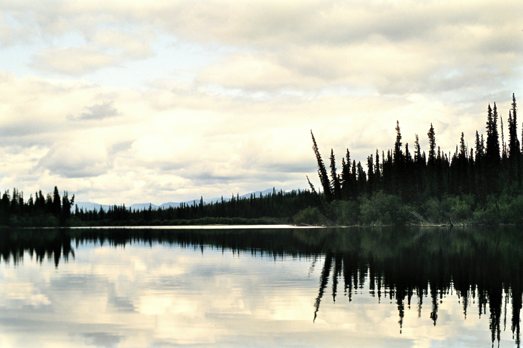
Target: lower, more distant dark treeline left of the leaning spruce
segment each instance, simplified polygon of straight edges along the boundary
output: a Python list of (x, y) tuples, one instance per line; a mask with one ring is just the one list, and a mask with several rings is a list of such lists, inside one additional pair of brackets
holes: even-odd
[(24, 201), (23, 193), (16, 188), (13, 194), (5, 191), (0, 206), (4, 226), (102, 226), (102, 225), (193, 225), (193, 224), (281, 224), (311, 205), (315, 197), (308, 189), (276, 191), (259, 196), (232, 196), (230, 200), (206, 203), (203, 197), (192, 204), (180, 203), (177, 207), (131, 209), (113, 205), (105, 210), (87, 210), (74, 206), (74, 195), (67, 192), (60, 197), (58, 188), (53, 194), (36, 193)]

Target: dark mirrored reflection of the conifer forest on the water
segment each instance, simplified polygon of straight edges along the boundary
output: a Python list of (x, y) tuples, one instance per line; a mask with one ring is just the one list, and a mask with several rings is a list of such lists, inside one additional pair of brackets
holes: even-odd
[[(59, 267), (86, 243), (126, 247), (168, 244), (232, 250), (262, 257), (309, 257), (311, 269), (322, 260), (313, 320), (322, 301), (348, 301), (368, 293), (378, 302), (397, 305), (398, 325), (405, 310), (430, 308), (438, 321), (438, 306), (456, 295), (463, 317), (489, 316), (492, 342), (507, 329), (520, 346), (523, 296), (523, 234), (517, 227), (348, 227), (330, 229), (18, 229), (0, 233), (4, 262), (18, 265), (24, 256)], [(344, 298), (344, 301), (345, 298)]]

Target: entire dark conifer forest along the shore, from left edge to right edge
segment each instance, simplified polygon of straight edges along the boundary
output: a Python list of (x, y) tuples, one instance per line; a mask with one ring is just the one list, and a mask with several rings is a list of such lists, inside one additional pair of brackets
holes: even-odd
[[(506, 127), (506, 129), (505, 129)], [(522, 128), (523, 130), (523, 128)], [(215, 202), (194, 201), (176, 207), (136, 210), (125, 205), (84, 210), (58, 187), (24, 199), (6, 190), (0, 201), (3, 226), (103, 226), (186, 224), (298, 225), (495, 225), (523, 223), (523, 144), (518, 139), (517, 105), (513, 94), (506, 123), (494, 103), (488, 104), (486, 127), (476, 130), (469, 147), (461, 133), (456, 149), (446, 152), (428, 127), (429, 148), (416, 134), (411, 147), (403, 143), (399, 122), (396, 141), (376, 149), (366, 163), (351, 159), (347, 149), (340, 163), (334, 151), (328, 169), (311, 130), (320, 187), (306, 177), (310, 189)], [(523, 133), (522, 133), (523, 139)]]

